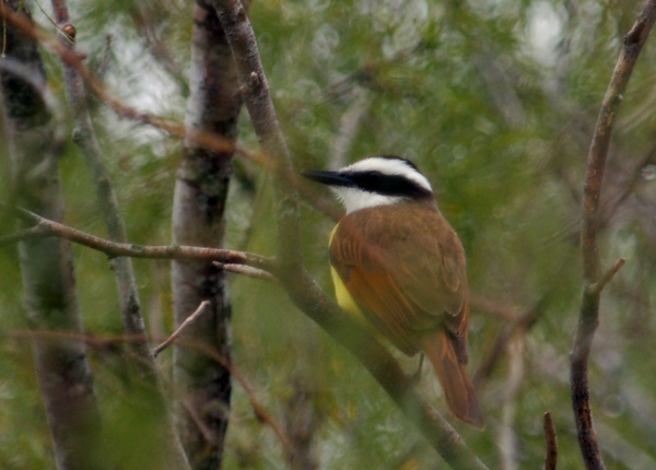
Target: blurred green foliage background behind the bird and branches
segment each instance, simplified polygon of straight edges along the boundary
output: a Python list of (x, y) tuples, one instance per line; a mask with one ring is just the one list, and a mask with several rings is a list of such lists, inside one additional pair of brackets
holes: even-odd
[[(71, 0), (79, 48), (110, 93), (184, 122), (191, 40), (189, 0)], [(460, 423), (491, 468), (541, 467), (551, 410), (560, 468), (581, 468), (569, 389), (578, 318), (578, 246), (585, 158), (622, 38), (643, 3), (632, 0), (254, 0), (278, 118), (297, 172), (373, 154), (412, 160), (426, 174), (467, 255), (470, 363), (488, 427)], [(55, 33), (33, 4), (35, 20)], [(602, 191), (605, 267), (626, 265), (602, 295), (590, 357), (595, 424), (610, 468), (656, 468), (656, 39), (637, 62), (620, 108)], [(44, 51), (66, 116), (59, 59)], [(120, 119), (90, 98), (130, 240), (171, 243), (181, 142)], [(243, 110), (239, 144), (258, 150)], [(7, 176), (5, 157), (2, 158)], [(70, 141), (61, 158), (67, 224), (106, 235), (86, 168)], [(227, 243), (274, 254), (266, 172), (236, 160)], [(317, 185), (318, 186), (318, 185)], [(315, 198), (329, 198), (311, 187)], [(2, 197), (7, 196), (5, 189)], [(332, 203), (332, 201), (330, 201)], [(337, 204), (335, 204), (337, 208)], [(303, 201), (304, 252), (331, 294), (333, 221)], [(11, 227), (0, 228), (0, 235)], [(74, 247), (89, 333), (122, 333), (106, 257)], [(172, 331), (169, 263), (136, 260), (148, 327)], [(27, 328), (15, 247), (0, 249), (0, 330)], [(273, 283), (231, 274), (233, 361), (281, 426), (302, 422), (320, 469), (437, 469), (445, 465), (366, 371)], [(124, 468), (150, 468), (149, 408), (122, 374), (121, 349), (92, 349), (105, 426)], [(157, 359), (164, 375), (171, 352)], [(399, 357), (407, 369), (415, 361)], [(421, 388), (444, 409), (432, 372)], [(450, 418), (449, 418), (450, 419)], [(297, 427), (297, 426), (296, 426)], [(301, 432), (301, 431), (298, 431)], [(288, 468), (272, 430), (235, 384), (225, 469)], [(51, 469), (50, 440), (28, 341), (0, 333), (0, 468)]]

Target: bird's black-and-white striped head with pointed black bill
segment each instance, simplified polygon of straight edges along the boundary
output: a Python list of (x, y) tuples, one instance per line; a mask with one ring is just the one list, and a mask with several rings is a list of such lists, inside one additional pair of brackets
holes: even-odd
[(348, 214), (376, 205), (433, 199), (426, 177), (400, 156), (370, 156), (336, 172), (307, 171), (302, 175), (328, 185)]

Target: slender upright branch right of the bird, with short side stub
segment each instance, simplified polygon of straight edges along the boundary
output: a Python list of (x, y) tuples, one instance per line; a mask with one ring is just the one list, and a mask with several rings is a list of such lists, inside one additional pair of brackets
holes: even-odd
[(570, 355), (570, 383), (578, 445), (586, 469), (588, 470), (605, 468), (593, 424), (588, 384), (588, 357), (595, 331), (599, 324), (599, 299), (601, 295), (601, 289), (596, 289), (595, 286), (602, 287), (605, 282), (608, 282), (610, 277), (621, 267), (620, 263), (614, 271), (609, 271), (611, 274), (608, 277), (608, 280), (602, 277), (597, 239), (600, 221), (599, 198), (601, 183), (616, 116), (637, 57), (647, 40), (655, 19), (656, 1), (649, 0), (646, 2), (629, 34), (624, 37), (624, 45), (601, 104), (601, 110), (599, 111), (587, 157), (581, 233), (584, 286), (578, 326)]

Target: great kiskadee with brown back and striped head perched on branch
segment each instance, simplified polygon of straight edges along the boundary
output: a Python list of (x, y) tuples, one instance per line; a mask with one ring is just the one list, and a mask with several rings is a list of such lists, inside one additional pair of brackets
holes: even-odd
[(338, 304), (409, 356), (424, 353), (449, 411), (482, 428), (465, 371), (465, 249), (437, 209), (426, 177), (411, 162), (388, 155), (303, 176), (328, 185), (347, 210), (330, 235)]

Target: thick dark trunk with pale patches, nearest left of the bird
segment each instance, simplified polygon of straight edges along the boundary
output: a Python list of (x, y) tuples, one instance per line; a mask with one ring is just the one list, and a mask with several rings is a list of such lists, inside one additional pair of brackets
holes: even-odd
[[(233, 142), (242, 99), (232, 52), (209, 1), (195, 2), (192, 40), (187, 127), (215, 132)], [(186, 142), (175, 186), (176, 244), (223, 246), (232, 156), (232, 151), (210, 152)], [(231, 305), (225, 272), (208, 262), (175, 261), (173, 295), (176, 325), (202, 301), (211, 302), (209, 312), (186, 330), (175, 348), (175, 380), (183, 401), (178, 426), (191, 466), (218, 469), (230, 418), (231, 377), (201, 349), (212, 348), (230, 357)]]

